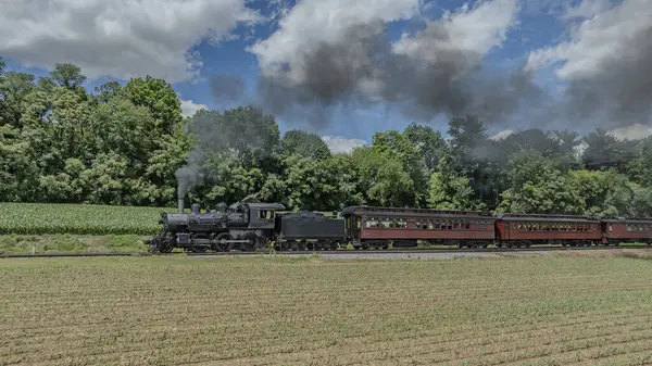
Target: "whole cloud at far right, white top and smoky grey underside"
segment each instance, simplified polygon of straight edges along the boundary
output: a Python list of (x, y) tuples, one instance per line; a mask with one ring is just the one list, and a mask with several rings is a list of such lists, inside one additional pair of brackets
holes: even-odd
[(526, 66), (552, 66), (566, 83), (563, 116), (607, 129), (649, 123), (652, 1), (623, 0), (609, 7), (585, 0), (564, 17), (580, 20), (569, 23), (569, 39), (531, 52)]

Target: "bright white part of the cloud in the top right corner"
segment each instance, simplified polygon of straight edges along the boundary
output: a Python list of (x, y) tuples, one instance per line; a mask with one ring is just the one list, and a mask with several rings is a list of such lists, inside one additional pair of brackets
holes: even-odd
[(650, 28), (650, 0), (623, 0), (619, 5), (595, 14), (599, 9), (605, 8), (589, 0), (572, 8), (567, 13), (570, 15), (565, 16), (590, 17), (572, 28), (570, 40), (531, 52), (526, 67), (537, 70), (561, 62), (555, 71), (561, 79), (591, 78), (603, 72), (602, 66), (610, 64), (606, 61), (627, 54), (628, 42)]

